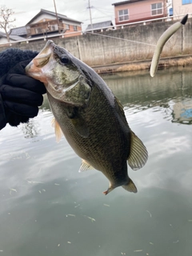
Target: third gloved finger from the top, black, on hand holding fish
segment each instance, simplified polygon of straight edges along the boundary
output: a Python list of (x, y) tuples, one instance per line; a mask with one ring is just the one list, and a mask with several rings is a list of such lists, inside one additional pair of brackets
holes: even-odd
[(29, 106), (26, 104), (20, 104), (16, 102), (3, 102), (6, 112), (11, 112), (17, 118), (17, 115), (21, 115), (27, 118), (34, 118), (38, 115), (38, 106)]

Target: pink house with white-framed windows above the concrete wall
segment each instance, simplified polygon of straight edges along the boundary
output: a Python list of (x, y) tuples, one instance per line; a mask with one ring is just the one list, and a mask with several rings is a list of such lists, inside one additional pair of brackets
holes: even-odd
[(116, 25), (167, 16), (166, 0), (130, 0), (115, 2), (112, 5)]

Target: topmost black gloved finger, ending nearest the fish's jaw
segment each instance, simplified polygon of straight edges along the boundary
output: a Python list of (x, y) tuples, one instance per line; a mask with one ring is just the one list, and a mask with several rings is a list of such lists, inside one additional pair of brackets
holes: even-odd
[(31, 90), (38, 94), (46, 94), (46, 87), (44, 84), (34, 78), (28, 77), (27, 75), (7, 74), (6, 83), (10, 86)]

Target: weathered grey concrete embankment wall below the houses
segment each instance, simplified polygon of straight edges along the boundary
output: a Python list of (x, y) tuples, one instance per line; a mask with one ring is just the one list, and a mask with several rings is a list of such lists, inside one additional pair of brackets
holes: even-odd
[[(156, 22), (149, 25), (127, 26), (124, 29), (110, 30), (98, 34), (83, 34), (74, 38), (54, 38), (58, 46), (69, 50), (90, 66), (117, 62), (132, 62), (150, 59), (154, 46), (162, 33), (174, 22)], [(107, 37), (106, 37), (107, 36)], [(119, 40), (117, 38), (122, 38)], [(22, 50), (42, 50), (45, 41), (13, 44)], [(162, 56), (191, 54), (192, 19), (177, 31), (163, 49)], [(0, 51), (7, 47), (0, 47)]]

